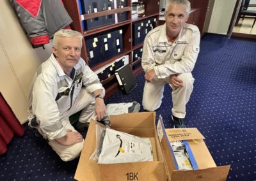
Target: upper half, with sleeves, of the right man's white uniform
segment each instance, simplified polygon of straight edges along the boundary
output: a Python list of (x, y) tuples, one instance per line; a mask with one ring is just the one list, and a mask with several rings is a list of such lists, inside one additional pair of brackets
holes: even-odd
[(191, 72), (199, 53), (200, 31), (196, 25), (185, 24), (174, 43), (166, 38), (166, 24), (150, 31), (145, 40), (142, 68), (155, 70), (157, 78)]

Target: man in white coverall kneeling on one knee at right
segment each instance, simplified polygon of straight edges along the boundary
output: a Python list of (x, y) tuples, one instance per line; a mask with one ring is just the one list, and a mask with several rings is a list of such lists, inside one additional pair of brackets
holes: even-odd
[(186, 127), (186, 103), (193, 91), (191, 74), (199, 53), (198, 27), (186, 24), (189, 17), (188, 0), (166, 2), (166, 23), (150, 31), (144, 41), (142, 67), (145, 87), (142, 105), (154, 111), (161, 106), (164, 85), (172, 87), (172, 120), (174, 127)]

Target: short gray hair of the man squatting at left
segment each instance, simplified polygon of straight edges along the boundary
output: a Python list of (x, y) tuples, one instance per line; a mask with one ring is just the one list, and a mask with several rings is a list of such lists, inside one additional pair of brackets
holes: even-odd
[(53, 40), (52, 40), (52, 47), (57, 48), (59, 38), (64, 38), (64, 37), (78, 38), (80, 40), (81, 47), (82, 47), (83, 35), (78, 31), (74, 31), (72, 29), (61, 29), (60, 31), (57, 31), (56, 33), (54, 33)]

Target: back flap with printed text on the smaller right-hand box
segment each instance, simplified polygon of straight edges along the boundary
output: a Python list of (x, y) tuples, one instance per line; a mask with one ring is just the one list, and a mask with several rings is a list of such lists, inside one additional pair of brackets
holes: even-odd
[(196, 129), (192, 128), (177, 128), (177, 129), (165, 129), (169, 141), (179, 140), (196, 140), (204, 139), (204, 136)]

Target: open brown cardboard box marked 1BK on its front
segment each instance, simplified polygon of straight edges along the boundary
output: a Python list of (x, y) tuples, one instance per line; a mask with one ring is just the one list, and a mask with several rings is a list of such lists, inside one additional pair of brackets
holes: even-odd
[(117, 131), (149, 138), (154, 161), (120, 164), (97, 164), (89, 159), (95, 150), (95, 125), (92, 120), (76, 170), (76, 180), (166, 180), (166, 168), (156, 131), (156, 113), (111, 115), (111, 127)]

